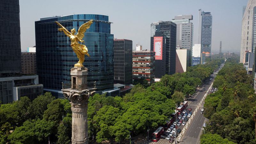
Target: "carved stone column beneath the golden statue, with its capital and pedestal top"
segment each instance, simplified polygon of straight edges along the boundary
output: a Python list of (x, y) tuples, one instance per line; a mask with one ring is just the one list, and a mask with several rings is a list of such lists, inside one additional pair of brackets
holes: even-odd
[[(72, 111), (72, 144), (88, 144), (87, 106), (88, 99), (95, 93), (95, 85), (87, 83), (87, 68), (71, 68), (71, 84), (62, 85), (65, 98), (70, 99)], [(95, 83), (94, 83), (95, 84)]]

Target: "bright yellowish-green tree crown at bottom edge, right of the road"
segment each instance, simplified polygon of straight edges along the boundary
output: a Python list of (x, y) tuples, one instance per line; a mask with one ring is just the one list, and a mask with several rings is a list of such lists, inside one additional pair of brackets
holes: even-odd
[(203, 134), (200, 138), (201, 144), (236, 144), (228, 139), (223, 139), (218, 134)]

